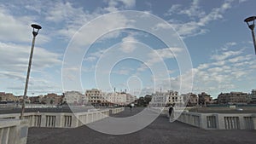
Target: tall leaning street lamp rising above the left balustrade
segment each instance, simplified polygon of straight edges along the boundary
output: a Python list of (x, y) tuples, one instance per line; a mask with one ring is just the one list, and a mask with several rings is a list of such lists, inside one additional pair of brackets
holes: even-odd
[(28, 68), (27, 68), (27, 72), (26, 72), (26, 84), (25, 84), (25, 90), (24, 90), (24, 95), (23, 95), (22, 108), (21, 108), (21, 112), (20, 112), (20, 119), (23, 119), (23, 115), (24, 115), (24, 112), (25, 112), (26, 91), (27, 91), (29, 74), (30, 74), (30, 69), (31, 69), (31, 64), (32, 64), (32, 55), (33, 55), (33, 51), (34, 51), (35, 40), (36, 40), (36, 37), (38, 35), (39, 30), (42, 28), (41, 26), (36, 25), (36, 24), (32, 24), (31, 26), (33, 28), (32, 48), (31, 48), (29, 62), (28, 62)]

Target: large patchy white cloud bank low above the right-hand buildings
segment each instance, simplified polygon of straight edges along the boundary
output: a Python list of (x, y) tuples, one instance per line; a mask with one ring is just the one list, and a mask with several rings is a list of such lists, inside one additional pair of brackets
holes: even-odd
[[(209, 63), (202, 63), (193, 68), (192, 72), (185, 72), (175, 78), (154, 79), (161, 81), (157, 88), (180, 90), (181, 84), (183, 89), (181, 92), (189, 90), (191, 86), (189, 78), (194, 78), (193, 91), (201, 93), (206, 91), (216, 97), (223, 91), (234, 91), (241, 89), (241, 86), (246, 81), (252, 81), (254, 73), (256, 72), (255, 55), (247, 54), (244, 49), (233, 50), (239, 48), (239, 43), (225, 43), (226, 49), (220, 49), (221, 55), (213, 56)], [(218, 58), (219, 57), (219, 58)], [(171, 88), (168, 83), (171, 81)]]

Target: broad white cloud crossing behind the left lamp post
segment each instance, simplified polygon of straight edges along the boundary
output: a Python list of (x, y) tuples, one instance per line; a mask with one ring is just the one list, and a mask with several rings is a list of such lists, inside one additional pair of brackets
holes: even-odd
[[(3, 72), (26, 72), (31, 46), (17, 45), (13, 43), (0, 43), (0, 69)], [(61, 66), (61, 55), (49, 52), (43, 48), (34, 48), (32, 69), (38, 72), (45, 68)], [(14, 74), (14, 77), (17, 73)]]

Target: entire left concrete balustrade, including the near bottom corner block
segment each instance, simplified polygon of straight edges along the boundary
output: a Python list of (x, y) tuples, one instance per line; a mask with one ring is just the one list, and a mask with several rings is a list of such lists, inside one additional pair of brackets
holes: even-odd
[[(111, 109), (113, 113), (124, 111)], [(96, 122), (109, 117), (110, 110), (90, 110), (89, 112), (25, 112), (23, 120), (20, 113), (0, 115), (0, 144), (26, 144), (29, 127), (76, 128), (83, 124)]]

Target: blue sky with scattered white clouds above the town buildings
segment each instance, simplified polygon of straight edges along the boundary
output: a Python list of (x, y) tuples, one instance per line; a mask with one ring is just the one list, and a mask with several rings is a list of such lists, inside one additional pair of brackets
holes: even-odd
[(137, 96), (160, 90), (212, 97), (249, 93), (256, 89), (256, 55), (243, 20), (256, 15), (255, 5), (253, 0), (3, 0), (0, 91), (23, 95), (35, 23), (43, 28), (27, 95), (93, 88)]

